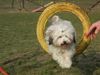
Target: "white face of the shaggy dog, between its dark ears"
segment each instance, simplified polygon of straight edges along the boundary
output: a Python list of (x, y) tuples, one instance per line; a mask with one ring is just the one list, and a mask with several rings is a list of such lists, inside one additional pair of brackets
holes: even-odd
[[(59, 34), (59, 35), (57, 35)], [(72, 43), (72, 35), (65, 31), (55, 31), (53, 35), (53, 44), (55, 46), (67, 47)]]

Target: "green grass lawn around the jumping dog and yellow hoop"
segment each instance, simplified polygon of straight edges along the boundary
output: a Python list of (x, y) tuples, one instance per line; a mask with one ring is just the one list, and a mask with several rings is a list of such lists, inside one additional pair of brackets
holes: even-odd
[[(6, 6), (3, 0), (0, 0), (0, 5)], [(36, 24), (41, 13), (9, 13), (4, 12), (8, 11), (5, 9), (1, 11), (0, 65), (9, 75), (100, 75), (100, 34), (85, 50), (87, 57), (80, 55), (77, 58), (79, 62), (73, 60), (71, 69), (61, 69), (37, 41)], [(58, 13), (58, 15), (72, 21), (79, 41), (82, 26), (77, 17), (70, 13)], [(93, 23), (100, 20), (100, 13), (89, 13), (89, 17)]]

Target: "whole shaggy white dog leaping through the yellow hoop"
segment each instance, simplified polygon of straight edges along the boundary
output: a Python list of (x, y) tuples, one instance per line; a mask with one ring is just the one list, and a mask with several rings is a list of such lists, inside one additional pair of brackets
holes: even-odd
[(54, 15), (51, 25), (46, 29), (45, 40), (48, 53), (61, 68), (70, 68), (76, 53), (76, 31), (72, 23)]

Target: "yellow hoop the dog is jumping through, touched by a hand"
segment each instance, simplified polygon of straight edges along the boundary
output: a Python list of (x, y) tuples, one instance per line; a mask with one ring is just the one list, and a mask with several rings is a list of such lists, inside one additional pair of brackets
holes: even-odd
[(45, 30), (45, 25), (47, 20), (54, 15), (57, 12), (61, 11), (68, 11), (73, 14), (75, 14), (80, 21), (82, 22), (83, 25), (83, 36), (81, 37), (81, 41), (76, 47), (76, 54), (81, 54), (89, 45), (90, 43), (90, 37), (86, 37), (84, 34), (88, 32), (89, 25), (90, 25), (90, 20), (86, 14), (85, 11), (83, 11), (79, 6), (68, 3), (68, 2), (60, 2), (56, 4), (52, 4), (49, 7), (47, 7), (41, 16), (39, 17), (38, 24), (37, 24), (37, 38), (43, 49), (48, 52), (48, 47), (45, 42), (44, 38), (44, 30)]

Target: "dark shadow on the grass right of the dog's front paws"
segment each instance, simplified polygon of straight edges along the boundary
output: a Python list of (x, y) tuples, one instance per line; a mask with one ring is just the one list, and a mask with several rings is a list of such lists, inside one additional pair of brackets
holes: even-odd
[(100, 75), (94, 72), (100, 67), (100, 54), (89, 53), (80, 55), (73, 60), (73, 66), (78, 67), (83, 75)]

